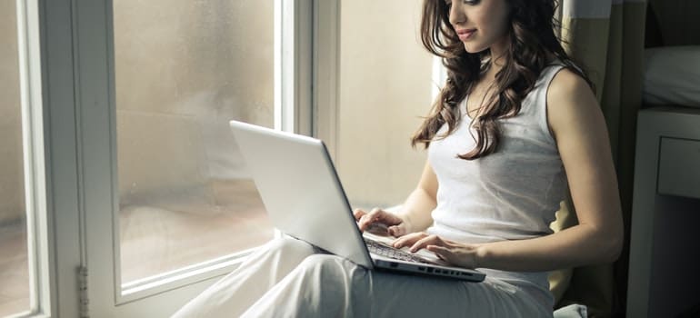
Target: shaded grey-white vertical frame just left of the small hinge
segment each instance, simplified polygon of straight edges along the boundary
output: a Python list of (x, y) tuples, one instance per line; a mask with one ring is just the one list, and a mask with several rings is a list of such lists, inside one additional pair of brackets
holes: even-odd
[[(78, 268), (83, 261), (76, 156), (74, 22), (70, 0), (17, 0), (37, 16), (45, 124), (46, 217), (50, 303), (38, 315), (79, 317)], [(32, 4), (32, 5), (29, 5)], [(29, 9), (31, 8), (31, 12)], [(38, 73), (38, 74), (37, 74)]]

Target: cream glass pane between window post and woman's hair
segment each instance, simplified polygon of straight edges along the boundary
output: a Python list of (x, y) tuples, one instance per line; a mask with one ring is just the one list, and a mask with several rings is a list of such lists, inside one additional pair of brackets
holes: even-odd
[(434, 86), (417, 31), (420, 3), (340, 2), (335, 161), (354, 207), (403, 203), (425, 164), (425, 152), (410, 145)]

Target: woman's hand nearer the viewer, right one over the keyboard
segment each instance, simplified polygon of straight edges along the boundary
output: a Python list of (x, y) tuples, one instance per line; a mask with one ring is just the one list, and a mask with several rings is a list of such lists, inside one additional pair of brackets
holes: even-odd
[(478, 266), (476, 258), (477, 244), (457, 243), (445, 240), (434, 234), (420, 232), (405, 234), (394, 241), (395, 248), (404, 246), (410, 246), (409, 250), (411, 253), (425, 248), (451, 265), (464, 268), (476, 268)]

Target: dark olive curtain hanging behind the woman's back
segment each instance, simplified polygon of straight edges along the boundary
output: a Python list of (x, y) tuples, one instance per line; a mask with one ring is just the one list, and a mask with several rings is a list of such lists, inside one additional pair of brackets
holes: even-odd
[[(592, 317), (624, 313), (635, 166), (636, 114), (642, 104), (645, 0), (559, 0), (565, 50), (591, 77), (605, 115), (625, 219), (625, 249), (614, 264), (575, 268), (559, 303), (584, 303)], [(571, 223), (571, 199), (560, 211)]]

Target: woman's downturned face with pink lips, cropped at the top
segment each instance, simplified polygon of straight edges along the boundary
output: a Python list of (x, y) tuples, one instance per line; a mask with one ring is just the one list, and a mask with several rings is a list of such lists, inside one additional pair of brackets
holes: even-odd
[(505, 0), (441, 0), (450, 7), (450, 25), (469, 53), (505, 50), (509, 7)]

